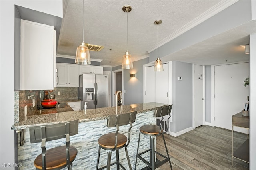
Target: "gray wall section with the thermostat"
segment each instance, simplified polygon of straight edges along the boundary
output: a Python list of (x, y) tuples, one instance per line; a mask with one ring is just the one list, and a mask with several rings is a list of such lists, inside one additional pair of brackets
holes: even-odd
[[(192, 127), (192, 64), (172, 61), (172, 120), (170, 131), (176, 133)], [(182, 77), (178, 80), (177, 77)]]

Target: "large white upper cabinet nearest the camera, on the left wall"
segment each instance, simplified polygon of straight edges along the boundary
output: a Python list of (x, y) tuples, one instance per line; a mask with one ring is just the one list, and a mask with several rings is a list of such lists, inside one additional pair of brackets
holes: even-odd
[(20, 90), (54, 89), (54, 27), (21, 20), (20, 29)]

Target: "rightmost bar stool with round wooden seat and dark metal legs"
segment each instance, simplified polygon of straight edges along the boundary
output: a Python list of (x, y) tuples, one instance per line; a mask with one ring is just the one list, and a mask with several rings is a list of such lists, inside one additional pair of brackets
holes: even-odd
[[(160, 120), (160, 127), (157, 126), (157, 125), (144, 125), (144, 126), (140, 127), (140, 134), (144, 134), (144, 135), (150, 137), (150, 149), (148, 149), (144, 152), (141, 152), (140, 154), (138, 153), (139, 152), (139, 146), (140, 146), (140, 134), (139, 134), (138, 148), (137, 148), (135, 168), (134, 168), (135, 170), (136, 170), (137, 158), (142, 160), (142, 162), (147, 164), (148, 167), (151, 168), (152, 170), (155, 170), (159, 166), (161, 166), (161, 165), (163, 165), (163, 164), (165, 164), (166, 162), (169, 161), (170, 168), (172, 170), (172, 164), (171, 164), (170, 157), (169, 157), (169, 154), (168, 154), (168, 150), (167, 150), (167, 147), (166, 147), (166, 142), (164, 140), (164, 134), (166, 133), (166, 131), (164, 131), (163, 128), (162, 128), (162, 120), (164, 119), (165, 115), (169, 115), (168, 121), (167, 121), (167, 122), (169, 122), (169, 119), (171, 117), (171, 115), (170, 115), (171, 110), (172, 110), (172, 105), (158, 107), (155, 117), (162, 117), (162, 119)], [(166, 129), (168, 129), (168, 128), (169, 128), (169, 123), (168, 123)], [(164, 156), (163, 154), (160, 154), (159, 152), (155, 151), (155, 142), (154, 142), (155, 137), (160, 136), (161, 134), (162, 134), (162, 138), (164, 140), (164, 146), (165, 146), (165, 149), (166, 149), (167, 156)], [(149, 162), (141, 156), (142, 154), (145, 154), (147, 152), (150, 152), (150, 161)], [(155, 153), (162, 156), (164, 158), (164, 160), (160, 161), (160, 160), (157, 159), (155, 161)]]

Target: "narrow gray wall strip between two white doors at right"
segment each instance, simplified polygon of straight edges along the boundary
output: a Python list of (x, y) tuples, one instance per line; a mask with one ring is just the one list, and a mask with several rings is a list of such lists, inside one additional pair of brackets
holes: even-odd
[(211, 65), (206, 65), (205, 67), (205, 121), (211, 123)]

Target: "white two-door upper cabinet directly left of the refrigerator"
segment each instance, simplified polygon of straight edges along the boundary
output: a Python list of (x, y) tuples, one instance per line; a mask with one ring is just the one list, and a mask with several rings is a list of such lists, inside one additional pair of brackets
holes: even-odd
[(79, 65), (56, 63), (57, 87), (79, 86)]

